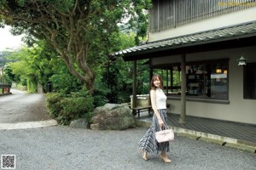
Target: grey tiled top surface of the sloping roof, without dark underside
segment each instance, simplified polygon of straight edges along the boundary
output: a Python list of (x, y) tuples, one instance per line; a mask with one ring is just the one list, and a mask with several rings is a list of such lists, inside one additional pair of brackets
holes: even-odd
[(169, 39), (147, 42), (145, 44), (126, 48), (121, 51), (110, 54), (111, 57), (126, 57), (137, 54), (148, 54), (150, 52), (161, 51), (194, 44), (221, 42), (224, 40), (237, 39), (256, 35), (256, 21), (244, 23), (236, 26), (228, 26), (210, 31), (202, 31), (181, 37), (172, 37)]

